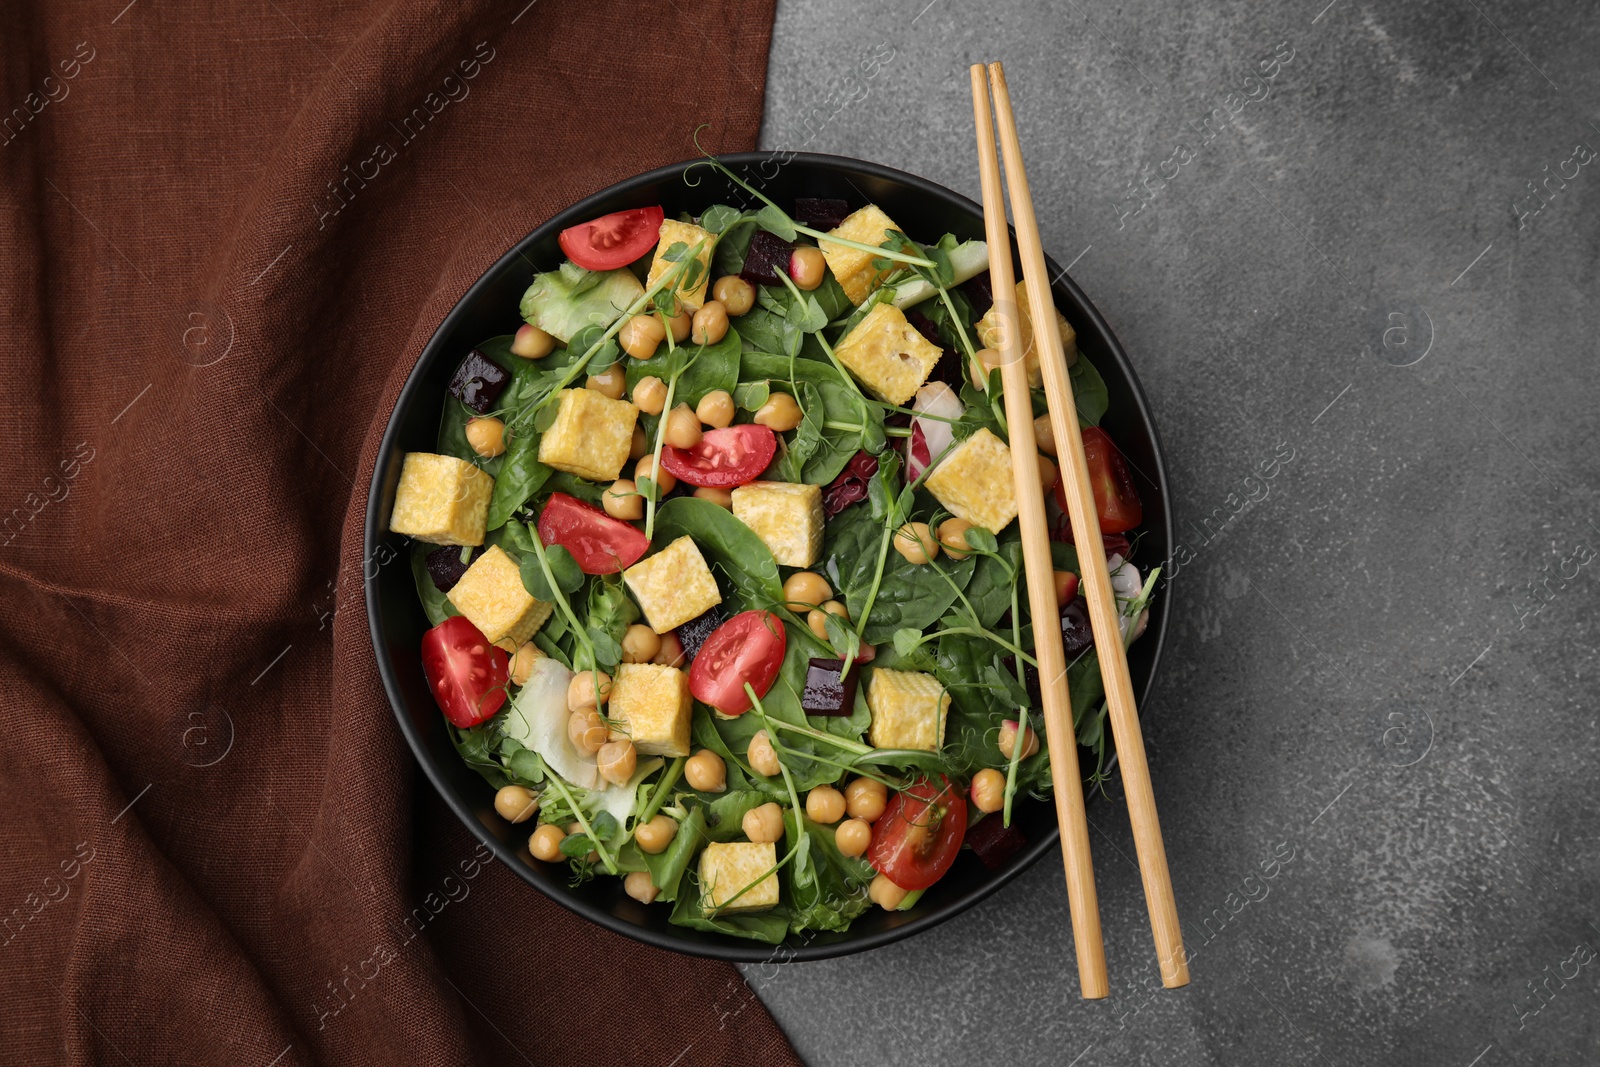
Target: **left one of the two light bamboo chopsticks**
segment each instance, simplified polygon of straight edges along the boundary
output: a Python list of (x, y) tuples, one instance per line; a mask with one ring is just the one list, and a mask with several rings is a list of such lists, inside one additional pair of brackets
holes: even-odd
[[(989, 114), (989, 86), (982, 64), (973, 64), (973, 118), (978, 125), (978, 166), (984, 186), (984, 229), (989, 237), (989, 275), (995, 293), (1014, 288), (1011, 275), (1011, 235), (1005, 224), (1005, 194), (1000, 187), (1000, 160), (995, 157), (994, 120)], [(1050, 560), (1050, 528), (1045, 520), (1045, 491), (1038, 482), (1038, 442), (1034, 438), (1034, 406), (1027, 392), (1027, 368), (1018, 350), (1014, 302), (1003, 322), (1000, 374), (1005, 386), (1006, 424), (1011, 438), (1011, 469), (1016, 477), (1018, 523), (1022, 531), (1022, 569), (1027, 603), (1035, 619), (1053, 619), (1056, 605), (1054, 566)], [(1067, 657), (1061, 627), (1034, 627), (1034, 656), (1045, 712), (1045, 742), (1050, 745), (1050, 776), (1056, 793), (1056, 821), (1061, 825), (1061, 859), (1067, 870), (1067, 907), (1072, 913), (1072, 942), (1078, 955), (1078, 989), (1086, 1000), (1110, 992), (1106, 977), (1106, 947), (1101, 944), (1099, 901), (1090, 862), (1090, 824), (1083, 813), (1083, 777), (1078, 773), (1078, 741), (1072, 728), (1072, 699), (1067, 696)], [(1021, 744), (1021, 739), (1018, 741)]]

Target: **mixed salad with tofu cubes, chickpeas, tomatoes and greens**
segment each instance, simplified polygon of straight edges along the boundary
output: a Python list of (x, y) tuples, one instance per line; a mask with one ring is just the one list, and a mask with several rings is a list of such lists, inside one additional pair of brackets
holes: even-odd
[[(779, 944), (1022, 849), (1050, 790), (1034, 625), (1062, 630), (1094, 777), (1106, 709), (1059, 501), (1059, 614), (1021, 589), (984, 243), (694, 168), (736, 203), (560, 230), (515, 333), (456, 354), (381, 522), (411, 542), (427, 691), (525, 857)], [(998, 298), (1038, 416), (1032, 334), (1061, 333), (1131, 643), (1155, 571), (1107, 386), (1066, 315)]]

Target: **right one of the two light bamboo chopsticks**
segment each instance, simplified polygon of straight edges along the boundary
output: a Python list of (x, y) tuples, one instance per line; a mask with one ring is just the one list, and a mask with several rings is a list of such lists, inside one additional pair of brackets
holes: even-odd
[[(1016, 219), (1016, 243), (1022, 259), (1022, 277), (1030, 282), (1027, 286), (1029, 309), (1035, 323), (1050, 323), (1056, 315), (1054, 298), (1050, 294), (1050, 274), (1045, 267), (1045, 250), (1038, 238), (1038, 219), (1034, 214), (1034, 198), (1027, 187), (1027, 173), (1022, 170), (1022, 144), (1018, 139), (1016, 118), (1011, 114), (1011, 91), (1006, 88), (1005, 70), (998, 62), (989, 64), (989, 83), (995, 96), (1000, 152), (1005, 155), (1006, 182), (1011, 189), (1011, 214)], [(973, 85), (978, 85), (976, 70), (973, 74)], [(987, 203), (989, 198), (986, 195), (986, 216), (990, 214)], [(994, 275), (997, 254), (992, 224), (989, 234), (989, 262)], [(1005, 294), (998, 285), (995, 291)], [(1112, 592), (1110, 573), (1106, 568), (1106, 544), (1101, 541), (1099, 517), (1094, 512), (1094, 490), (1090, 483), (1088, 462), (1083, 458), (1083, 437), (1078, 432), (1077, 402), (1072, 397), (1072, 382), (1067, 378), (1067, 363), (1058, 333), (1054, 330), (1035, 330), (1034, 344), (1038, 346), (1045, 398), (1050, 405), (1050, 426), (1056, 437), (1056, 458), (1061, 461), (1061, 480), (1067, 498), (1067, 515), (1072, 520), (1072, 539), (1078, 549), (1078, 566), (1083, 571), (1082, 585), (1088, 600), (1090, 625), (1094, 630), (1094, 648), (1099, 653), (1101, 677), (1106, 681), (1106, 704), (1110, 710), (1112, 737), (1117, 742), (1117, 760), (1122, 765), (1123, 789), (1128, 795), (1128, 819), (1133, 824), (1133, 843), (1139, 856), (1144, 899), (1150, 910), (1150, 931), (1155, 936), (1162, 984), (1168, 989), (1176, 989), (1189, 984), (1189, 960), (1184, 955), (1182, 929), (1178, 925), (1178, 902), (1173, 899), (1173, 880), (1166, 869), (1166, 846), (1162, 843), (1162, 824), (1155, 814), (1155, 790), (1150, 787), (1150, 766), (1144, 758), (1144, 736), (1139, 733), (1139, 710), (1133, 699), (1133, 678), (1128, 675), (1128, 651), (1122, 641), (1117, 597)], [(1011, 386), (1008, 382), (1008, 402), (1010, 394)], [(1013, 419), (1013, 453), (1016, 453), (1018, 429)], [(1032, 437), (1032, 429), (1027, 430), (1027, 435)], [(1026, 536), (1027, 531), (1024, 528), (1024, 544)], [(1037, 611), (1035, 617), (1038, 617)], [(1040, 673), (1043, 675), (1043, 669)], [(1070, 718), (1067, 726), (1070, 729)], [(1072, 734), (1069, 733), (1067, 736), (1070, 737)], [(1054, 745), (1051, 745), (1050, 757), (1051, 760), (1056, 757)], [(1075, 760), (1074, 766), (1077, 766)]]

